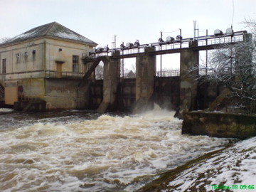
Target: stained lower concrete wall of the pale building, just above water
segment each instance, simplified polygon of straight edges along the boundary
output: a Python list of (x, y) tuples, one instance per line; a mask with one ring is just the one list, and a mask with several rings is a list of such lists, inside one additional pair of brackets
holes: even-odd
[[(80, 95), (78, 96), (77, 87), (79, 82), (80, 80), (63, 78), (22, 79), (16, 82), (15, 87), (10, 87), (11, 90), (6, 89), (6, 95), (9, 94), (8, 100), (6, 100), (8, 103), (6, 104), (14, 105), (18, 98), (21, 102), (33, 102), (39, 99), (46, 101), (46, 110), (84, 109), (85, 92), (87, 90), (80, 90)], [(17, 97), (15, 98), (14, 90), (17, 92)]]

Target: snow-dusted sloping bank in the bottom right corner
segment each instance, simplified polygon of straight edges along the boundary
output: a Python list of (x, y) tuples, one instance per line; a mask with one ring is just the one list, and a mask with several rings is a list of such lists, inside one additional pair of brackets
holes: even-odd
[(169, 182), (168, 188), (161, 192), (195, 189), (256, 191), (256, 137), (238, 142), (182, 171), (174, 181)]

